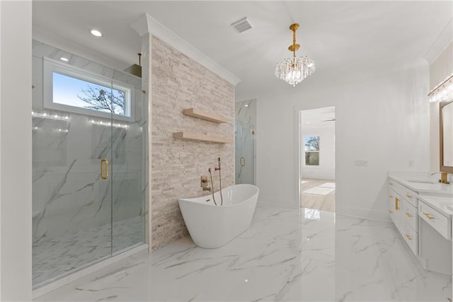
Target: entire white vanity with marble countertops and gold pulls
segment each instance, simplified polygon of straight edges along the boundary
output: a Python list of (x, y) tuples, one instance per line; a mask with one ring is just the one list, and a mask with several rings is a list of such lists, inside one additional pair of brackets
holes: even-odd
[(453, 185), (389, 175), (391, 221), (425, 269), (452, 274)]

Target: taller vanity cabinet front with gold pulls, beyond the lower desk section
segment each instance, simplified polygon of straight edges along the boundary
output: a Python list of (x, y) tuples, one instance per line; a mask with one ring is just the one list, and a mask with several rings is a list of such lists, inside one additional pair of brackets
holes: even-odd
[(414, 255), (418, 255), (417, 205), (417, 192), (389, 179), (389, 215)]

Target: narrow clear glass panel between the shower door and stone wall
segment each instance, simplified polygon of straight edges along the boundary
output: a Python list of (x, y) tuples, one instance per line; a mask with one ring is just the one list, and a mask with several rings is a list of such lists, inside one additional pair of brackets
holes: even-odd
[(113, 124), (113, 254), (144, 243), (147, 110), (142, 98), (142, 79), (129, 74), (115, 74), (122, 83), (134, 86), (134, 121)]

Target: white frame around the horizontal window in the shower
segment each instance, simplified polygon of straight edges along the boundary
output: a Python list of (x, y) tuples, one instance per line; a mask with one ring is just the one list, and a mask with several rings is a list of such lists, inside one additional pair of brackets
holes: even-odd
[[(135, 87), (127, 83), (115, 81), (108, 77), (95, 74), (91, 71), (80, 69), (76, 66), (69, 64), (63, 64), (53, 59), (43, 57), (42, 60), (42, 84), (43, 84), (43, 100), (42, 106), (47, 109), (60, 110), (65, 112), (77, 113), (80, 115), (90, 115), (95, 117), (103, 117), (113, 120), (122, 120), (127, 122), (135, 121)], [(82, 108), (78, 106), (66, 105), (61, 103), (55, 103), (53, 100), (53, 74), (62, 74), (63, 76), (69, 76), (74, 79), (86, 81), (96, 85), (112, 87), (119, 91), (125, 91), (125, 115), (118, 115), (112, 112), (103, 112), (90, 108)], [(130, 115), (127, 115), (129, 113)]]

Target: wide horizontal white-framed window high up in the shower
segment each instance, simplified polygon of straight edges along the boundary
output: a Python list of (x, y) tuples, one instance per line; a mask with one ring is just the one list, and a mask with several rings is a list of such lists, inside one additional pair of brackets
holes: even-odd
[(45, 108), (133, 121), (134, 87), (44, 60)]

